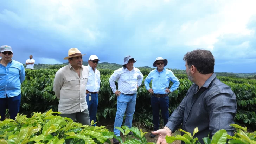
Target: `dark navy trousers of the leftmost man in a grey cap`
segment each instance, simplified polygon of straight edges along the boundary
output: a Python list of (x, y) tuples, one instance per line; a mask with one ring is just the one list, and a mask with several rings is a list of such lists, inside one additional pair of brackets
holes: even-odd
[(20, 111), (20, 98), (21, 94), (15, 97), (0, 98), (0, 115), (1, 121), (5, 120), (5, 111), (8, 107), (10, 118), (15, 120), (15, 117)]

